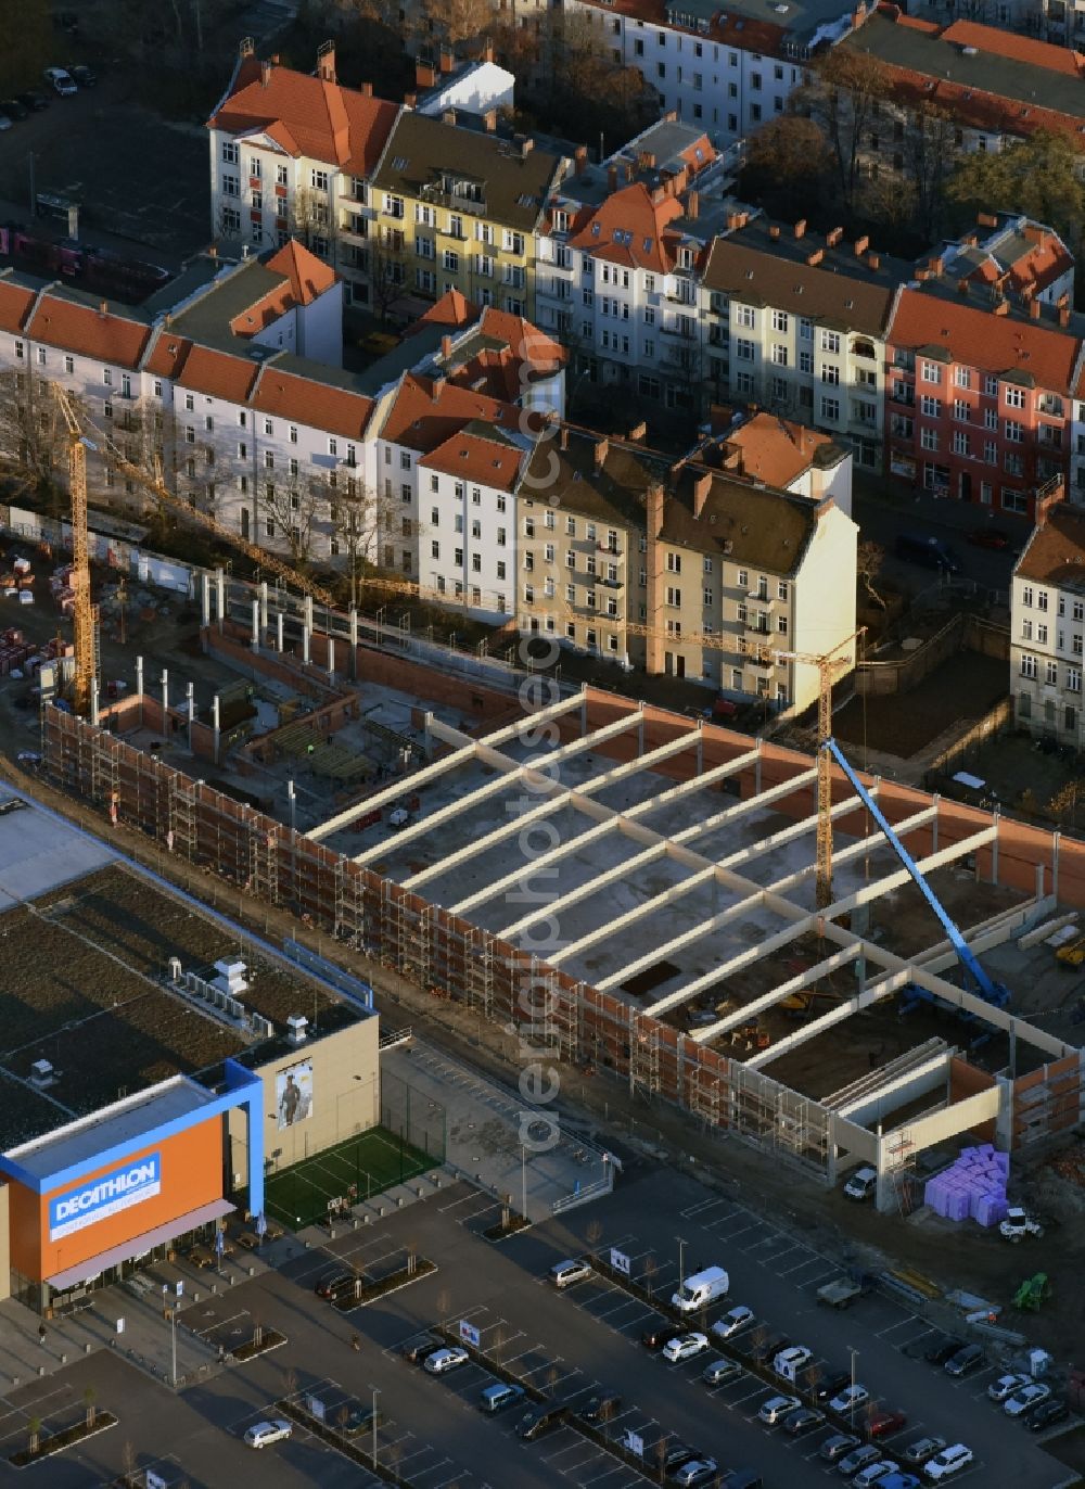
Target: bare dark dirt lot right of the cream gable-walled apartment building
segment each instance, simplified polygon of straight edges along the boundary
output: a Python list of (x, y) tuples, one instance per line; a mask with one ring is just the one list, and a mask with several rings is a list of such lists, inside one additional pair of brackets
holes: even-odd
[(1009, 672), (996, 657), (957, 652), (911, 692), (853, 698), (833, 716), (836, 739), (905, 759), (958, 719), (981, 719), (1006, 695)]

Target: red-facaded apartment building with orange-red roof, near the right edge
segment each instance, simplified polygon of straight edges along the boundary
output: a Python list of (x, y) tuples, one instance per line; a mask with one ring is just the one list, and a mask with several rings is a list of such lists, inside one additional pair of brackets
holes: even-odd
[(900, 293), (889, 332), (889, 469), (936, 496), (1034, 511), (1066, 479), (1082, 339), (1069, 305), (1011, 301), (941, 261)]

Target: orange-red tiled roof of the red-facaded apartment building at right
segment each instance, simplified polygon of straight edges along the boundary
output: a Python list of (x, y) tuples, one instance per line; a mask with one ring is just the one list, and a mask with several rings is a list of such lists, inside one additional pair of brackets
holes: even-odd
[(1069, 393), (1078, 338), (1034, 320), (994, 316), (905, 289), (886, 338), (896, 347), (945, 347), (954, 362), (988, 372), (1028, 372), (1037, 387)]

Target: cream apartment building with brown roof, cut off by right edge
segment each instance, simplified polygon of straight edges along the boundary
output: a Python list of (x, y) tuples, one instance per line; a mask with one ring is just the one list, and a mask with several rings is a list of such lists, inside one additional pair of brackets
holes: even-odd
[(1021, 728), (1081, 749), (1085, 511), (1042, 500), (1011, 585), (1011, 691)]

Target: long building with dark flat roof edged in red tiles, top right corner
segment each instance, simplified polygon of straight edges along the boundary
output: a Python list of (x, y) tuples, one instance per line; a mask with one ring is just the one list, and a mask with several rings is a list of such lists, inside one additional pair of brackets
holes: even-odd
[(953, 121), (950, 143), (963, 153), (993, 153), (1039, 131), (1082, 147), (1081, 64), (1066, 46), (884, 3), (841, 46), (883, 63), (892, 86), (862, 140), (878, 171), (903, 170), (903, 133), (920, 106)]

